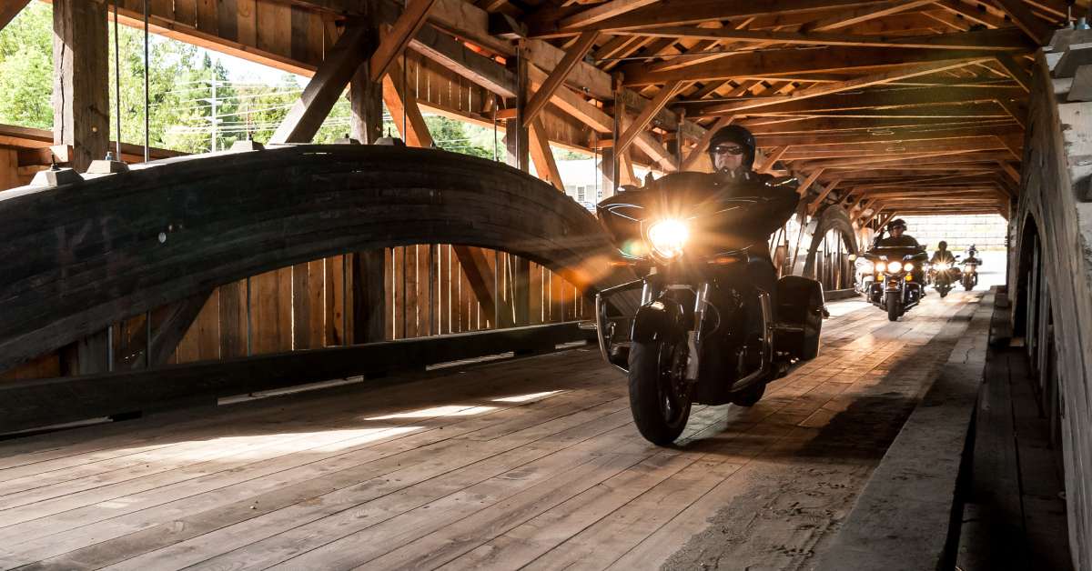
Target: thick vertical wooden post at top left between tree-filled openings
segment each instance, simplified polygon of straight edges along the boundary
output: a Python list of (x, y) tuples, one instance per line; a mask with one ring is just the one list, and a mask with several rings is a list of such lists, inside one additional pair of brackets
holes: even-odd
[(54, 1), (54, 143), (72, 145), (79, 171), (109, 145), (106, 12), (106, 2)]

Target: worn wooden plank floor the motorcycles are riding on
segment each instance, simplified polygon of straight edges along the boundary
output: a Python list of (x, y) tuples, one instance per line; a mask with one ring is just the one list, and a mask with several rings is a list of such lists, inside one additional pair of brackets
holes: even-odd
[(670, 449), (593, 348), (0, 442), (0, 568), (805, 568), (980, 296), (831, 304)]

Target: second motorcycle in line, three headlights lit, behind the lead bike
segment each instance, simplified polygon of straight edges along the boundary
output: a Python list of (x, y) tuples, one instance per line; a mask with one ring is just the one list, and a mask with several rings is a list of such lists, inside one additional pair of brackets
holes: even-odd
[(877, 247), (865, 252), (873, 277), (865, 297), (887, 310), (888, 320), (898, 321), (906, 310), (922, 302), (927, 254), (924, 247)]

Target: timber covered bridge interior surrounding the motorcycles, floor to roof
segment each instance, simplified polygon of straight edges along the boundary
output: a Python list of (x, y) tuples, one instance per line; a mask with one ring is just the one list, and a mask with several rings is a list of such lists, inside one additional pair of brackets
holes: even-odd
[[(52, 132), (0, 126), (0, 567), (1092, 569), (1085, 1), (49, 4)], [(268, 141), (111, 142), (117, 25), (307, 84)], [(799, 181), (771, 251), (831, 318), (661, 449), (585, 345), (632, 276), (554, 148), (607, 198), (728, 124)], [(997, 287), (855, 299), (889, 221), (973, 214)]]

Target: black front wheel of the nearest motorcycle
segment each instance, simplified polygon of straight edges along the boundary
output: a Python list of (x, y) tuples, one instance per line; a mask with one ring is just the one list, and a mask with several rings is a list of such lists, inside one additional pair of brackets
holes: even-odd
[(690, 391), (682, 379), (686, 343), (633, 343), (629, 350), (629, 407), (641, 436), (665, 447), (690, 418)]

